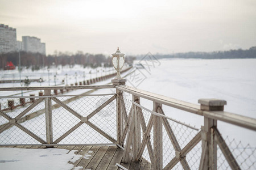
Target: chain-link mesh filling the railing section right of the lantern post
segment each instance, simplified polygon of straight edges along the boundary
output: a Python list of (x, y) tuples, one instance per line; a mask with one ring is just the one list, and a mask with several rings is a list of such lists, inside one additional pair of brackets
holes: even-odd
[[(143, 107), (138, 107), (137, 105), (133, 105), (131, 96), (125, 95), (126, 98), (123, 100), (125, 104), (125, 109), (127, 110), (127, 113), (131, 111), (131, 108), (136, 108), (137, 113), (141, 114), (143, 116), (143, 121), (146, 124), (146, 128), (150, 126), (150, 120), (152, 115), (152, 112), (147, 111), (147, 109), (144, 109)], [(130, 112), (130, 114), (132, 114)], [(155, 115), (154, 115), (155, 116)], [(200, 166), (200, 159), (202, 155), (202, 142), (200, 139), (200, 142), (198, 142), (193, 148), (183, 157), (179, 157), (179, 152), (177, 152), (177, 148), (183, 150), (189, 142), (193, 138), (196, 137), (196, 135), (200, 132), (199, 130), (195, 130), (192, 128), (189, 128), (186, 125), (180, 124), (179, 122), (172, 121), (167, 119), (168, 124), (171, 128), (172, 133), (172, 140), (175, 141), (176, 139), (176, 146), (175, 142), (172, 142), (170, 139), (170, 134), (168, 134), (168, 131), (170, 133), (170, 129), (166, 129), (167, 127), (164, 125), (164, 122), (162, 121), (162, 144), (159, 142), (154, 143), (154, 123), (151, 128), (151, 130), (148, 131), (148, 134), (145, 134), (143, 132), (142, 124), (143, 122), (140, 120), (140, 128), (141, 128), (141, 143), (139, 143), (139, 146), (142, 147), (143, 138), (148, 139), (148, 143), (144, 144), (142, 159), (146, 159), (148, 162), (152, 164), (152, 168), (154, 168), (154, 165), (162, 165), (162, 167), (170, 167), (170, 164), (174, 163), (171, 166), (171, 169), (184, 169), (186, 165), (190, 169), (199, 169)], [(151, 122), (152, 123), (152, 122)], [(158, 138), (156, 141), (161, 141), (158, 135)], [(127, 138), (126, 138), (127, 139)], [(226, 159), (228, 156), (231, 158), (230, 155), (233, 156), (233, 160), (230, 160), (231, 163), (237, 162), (238, 166), (241, 169), (256, 169), (256, 148), (251, 147), (249, 144), (244, 145), (241, 141), (237, 142), (236, 139), (230, 140), (228, 137), (225, 138), (225, 145), (223, 146), (221, 143), (218, 143), (217, 145), (217, 169), (232, 169)], [(216, 141), (217, 142), (217, 141)], [(158, 146), (154, 146), (158, 145)], [(178, 145), (178, 146), (177, 146)], [(224, 155), (223, 151), (219, 147), (222, 145), (224, 147), (224, 150), (230, 150), (230, 155)], [(149, 148), (148, 148), (149, 147)], [(180, 148), (179, 148), (180, 147)], [(154, 150), (154, 148), (162, 148), (162, 150)], [(131, 146), (131, 149), (133, 150), (133, 146)], [(141, 150), (142, 148), (139, 148)], [(224, 151), (226, 152), (226, 151)], [(139, 155), (139, 154), (138, 154)], [(162, 155), (162, 159), (156, 158), (157, 155)], [(226, 157), (225, 157), (226, 156)], [(152, 157), (152, 158), (151, 158)], [(152, 162), (153, 160), (153, 162)], [(239, 168), (237, 168), (239, 169)]]

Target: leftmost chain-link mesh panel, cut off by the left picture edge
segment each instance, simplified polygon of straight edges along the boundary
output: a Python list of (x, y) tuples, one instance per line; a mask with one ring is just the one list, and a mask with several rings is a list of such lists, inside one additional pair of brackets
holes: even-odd
[[(1, 103), (7, 103), (7, 106), (1, 108), (1, 111), (6, 113), (10, 118), (15, 118), (19, 116), (20, 113), (24, 112), (26, 109), (30, 108), (38, 99), (36, 98), (23, 98), (24, 105), (19, 103), (18, 98), (8, 97), (7, 99), (1, 98)], [(34, 102), (32, 102), (32, 101)], [(16, 101), (9, 102), (9, 101)], [(30, 109), (26, 114), (23, 114), (22, 117), (17, 119), (17, 123), (31, 133), (36, 134), (39, 138), (46, 138), (46, 118), (44, 112), (44, 102), (41, 101), (34, 108)], [(35, 117), (34, 117), (35, 116)], [(30, 119), (31, 117), (34, 117)], [(9, 124), (7, 118), (0, 116), (0, 129)], [(9, 124), (10, 125), (10, 124)], [(32, 138), (31, 135), (28, 135), (22, 129), (18, 128), (14, 124), (11, 124), (6, 130), (0, 133), (0, 145), (15, 145), (15, 144), (40, 144), (39, 141)]]

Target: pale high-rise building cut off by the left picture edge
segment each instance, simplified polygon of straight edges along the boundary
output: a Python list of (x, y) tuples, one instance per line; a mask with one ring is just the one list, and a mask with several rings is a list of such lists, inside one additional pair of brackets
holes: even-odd
[(0, 24), (0, 53), (14, 52), (16, 46), (16, 29)]

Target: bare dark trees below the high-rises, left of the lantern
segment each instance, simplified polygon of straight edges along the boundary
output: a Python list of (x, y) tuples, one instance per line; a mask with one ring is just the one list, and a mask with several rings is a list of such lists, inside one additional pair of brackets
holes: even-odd
[[(127, 57), (126, 61), (132, 62), (134, 57)], [(7, 62), (13, 62), (15, 66), (19, 66), (19, 53), (0, 54), (0, 69), (4, 69)], [(112, 57), (106, 57), (104, 54), (89, 54), (78, 51), (76, 54), (69, 52), (57, 52), (53, 55), (44, 56), (40, 53), (20, 52), (20, 66), (22, 68), (31, 68), (39, 70), (41, 67), (49, 66), (74, 66), (83, 65), (84, 67), (112, 67)]]

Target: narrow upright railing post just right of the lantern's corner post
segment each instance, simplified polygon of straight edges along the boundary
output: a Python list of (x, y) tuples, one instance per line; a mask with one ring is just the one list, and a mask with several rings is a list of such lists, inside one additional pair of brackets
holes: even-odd
[[(133, 101), (140, 104), (138, 96), (133, 95)], [(137, 155), (139, 151), (139, 145), (141, 144), (141, 124), (139, 122), (137, 107), (134, 104), (132, 105), (132, 107), (134, 109), (134, 112), (133, 112), (133, 122), (134, 122), (133, 160), (134, 162), (139, 162)]]

